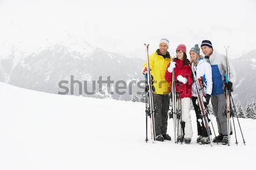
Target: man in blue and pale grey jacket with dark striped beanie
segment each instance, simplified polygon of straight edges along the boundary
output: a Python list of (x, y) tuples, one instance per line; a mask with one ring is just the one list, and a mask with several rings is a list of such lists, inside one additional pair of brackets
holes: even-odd
[[(216, 50), (213, 50), (212, 42), (204, 40), (201, 44), (201, 49), (212, 66), (212, 107), (213, 114), (216, 117), (218, 125), (219, 135), (213, 139), (213, 142), (222, 142), (222, 144), (228, 144), (228, 125), (225, 114), (226, 98), (224, 94), (224, 87), (228, 90), (232, 89), (234, 83), (236, 83), (236, 72), (232, 64), (229, 62), (229, 82), (224, 83), (226, 74), (226, 56), (218, 54)], [(231, 124), (230, 124), (231, 126)], [(230, 127), (231, 128), (231, 127)], [(232, 134), (232, 130), (231, 133)]]

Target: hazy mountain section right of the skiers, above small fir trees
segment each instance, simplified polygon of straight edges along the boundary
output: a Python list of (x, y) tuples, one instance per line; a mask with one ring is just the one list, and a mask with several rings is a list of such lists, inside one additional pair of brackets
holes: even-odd
[(234, 97), (243, 107), (251, 98), (256, 99), (256, 50), (251, 50), (240, 58), (231, 61), (237, 73)]

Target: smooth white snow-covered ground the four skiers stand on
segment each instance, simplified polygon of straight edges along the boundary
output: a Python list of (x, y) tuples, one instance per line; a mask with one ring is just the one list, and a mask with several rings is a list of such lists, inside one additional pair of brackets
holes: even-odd
[[(0, 169), (256, 169), (255, 120), (240, 119), (246, 146), (238, 130), (238, 146), (234, 136), (231, 146), (198, 145), (193, 111), (191, 145), (146, 143), (143, 103), (47, 94), (5, 83), (0, 94)], [(168, 120), (174, 138), (172, 129)]]

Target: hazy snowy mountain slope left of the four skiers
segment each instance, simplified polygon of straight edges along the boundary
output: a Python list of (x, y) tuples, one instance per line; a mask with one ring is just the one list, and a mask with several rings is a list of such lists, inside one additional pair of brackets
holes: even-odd
[[(13, 84), (18, 87), (57, 94), (63, 91), (59, 87), (61, 80), (71, 83), (71, 75), (82, 83), (87, 81), (89, 92), (93, 92), (93, 80), (111, 80), (117, 82), (123, 80), (129, 83), (131, 80), (142, 79), (142, 59), (127, 58), (119, 54), (106, 52), (100, 48), (91, 46), (83, 39), (69, 37), (69, 40), (59, 44), (48, 46), (30, 54), (21, 55), (14, 48), (12, 53), (1, 59), (0, 81)], [(82, 84), (84, 85), (84, 84)], [(98, 87), (98, 86), (96, 86)], [(114, 84), (112, 84), (112, 89)], [(133, 93), (138, 91), (133, 84)], [(82, 87), (84, 92), (84, 87)], [(93, 97), (112, 97), (113, 99), (130, 100), (131, 95), (118, 94), (105, 96), (98, 94), (98, 88), (94, 90)], [(68, 94), (71, 94), (69, 89)], [(74, 94), (79, 95), (79, 87), (75, 86)], [(86, 94), (82, 94), (86, 95)]]

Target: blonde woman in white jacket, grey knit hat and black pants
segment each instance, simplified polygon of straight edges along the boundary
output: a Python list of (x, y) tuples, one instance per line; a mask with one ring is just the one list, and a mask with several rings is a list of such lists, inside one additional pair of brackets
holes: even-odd
[[(204, 96), (204, 102), (206, 105), (209, 104), (210, 95), (212, 94), (212, 67), (210, 63), (207, 62), (203, 57), (200, 56), (200, 48), (196, 44), (189, 51), (191, 57), (191, 63), (193, 69), (195, 70), (196, 80), (200, 79), (203, 89), (200, 90), (200, 94)], [(196, 84), (192, 84), (192, 103), (195, 108), (196, 118), (197, 118), (197, 133), (199, 137), (196, 139), (197, 143), (209, 144), (209, 137), (207, 130), (204, 127), (202, 116), (200, 112), (199, 105), (197, 105), (197, 95), (196, 95)]]

